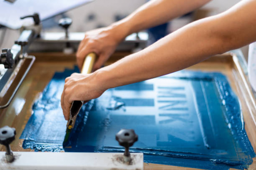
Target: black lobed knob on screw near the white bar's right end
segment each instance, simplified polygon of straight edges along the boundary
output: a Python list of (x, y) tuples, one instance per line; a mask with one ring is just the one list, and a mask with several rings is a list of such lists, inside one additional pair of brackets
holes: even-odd
[(124, 155), (130, 156), (129, 147), (138, 140), (138, 135), (136, 135), (133, 129), (121, 129), (116, 134), (116, 140), (121, 146), (125, 147)]

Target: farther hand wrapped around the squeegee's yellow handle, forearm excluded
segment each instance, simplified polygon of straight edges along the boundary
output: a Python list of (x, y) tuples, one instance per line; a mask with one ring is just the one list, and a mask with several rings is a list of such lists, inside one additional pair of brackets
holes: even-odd
[(101, 68), (123, 38), (122, 31), (111, 26), (86, 32), (76, 54), (79, 69), (82, 69), (86, 55), (91, 52), (96, 53), (98, 56), (93, 66), (93, 71)]

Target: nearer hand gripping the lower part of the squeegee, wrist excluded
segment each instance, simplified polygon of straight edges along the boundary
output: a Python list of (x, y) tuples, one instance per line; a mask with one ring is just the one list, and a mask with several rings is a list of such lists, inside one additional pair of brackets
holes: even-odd
[(74, 100), (88, 101), (100, 97), (106, 90), (101, 78), (96, 78), (97, 72), (91, 74), (73, 73), (65, 79), (61, 96), (61, 107), (66, 120), (69, 119), (71, 103)]

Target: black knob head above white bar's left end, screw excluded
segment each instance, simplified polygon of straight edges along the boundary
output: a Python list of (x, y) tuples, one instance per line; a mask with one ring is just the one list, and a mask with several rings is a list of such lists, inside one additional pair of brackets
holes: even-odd
[(4, 126), (0, 128), (0, 144), (5, 146), (12, 143), (15, 140), (16, 130), (15, 128), (10, 128), (9, 126)]

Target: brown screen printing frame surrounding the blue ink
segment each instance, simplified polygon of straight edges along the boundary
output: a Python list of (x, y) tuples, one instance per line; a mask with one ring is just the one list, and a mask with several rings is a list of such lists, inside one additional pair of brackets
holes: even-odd
[[(116, 52), (111, 56), (106, 65), (111, 64), (128, 54), (129, 52)], [(23, 140), (19, 139), (30, 115), (32, 114), (32, 105), (56, 71), (63, 71), (64, 68), (71, 69), (75, 64), (75, 54), (33, 53), (32, 55), (36, 56), (34, 65), (10, 106), (0, 111), (0, 127), (9, 125), (15, 127), (17, 130), (16, 140), (11, 144), (13, 151), (33, 152), (30, 149), (24, 150), (22, 148)], [(254, 151), (256, 151), (256, 102), (249, 86), (246, 73), (238, 58), (238, 55), (235, 53), (217, 55), (187, 69), (210, 72), (218, 71), (227, 76), (232, 89), (241, 102), (245, 129)], [(4, 148), (1, 146), (0, 151), (4, 151)], [(144, 164), (144, 168), (193, 169), (157, 164)], [(256, 168), (255, 158), (249, 169), (254, 168)]]

